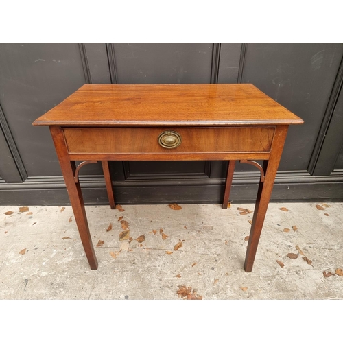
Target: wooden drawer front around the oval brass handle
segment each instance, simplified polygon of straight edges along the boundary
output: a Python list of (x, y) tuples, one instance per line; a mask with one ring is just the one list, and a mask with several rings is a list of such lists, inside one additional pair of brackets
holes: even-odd
[[(187, 152), (269, 152), (274, 127), (247, 128), (64, 128), (68, 151), (75, 154), (182, 154)], [(176, 132), (177, 147), (162, 147), (158, 137)], [(168, 134), (167, 134), (168, 136)], [(168, 137), (167, 137), (168, 138)], [(173, 139), (169, 142), (173, 143)], [(162, 143), (168, 144), (168, 139)]]

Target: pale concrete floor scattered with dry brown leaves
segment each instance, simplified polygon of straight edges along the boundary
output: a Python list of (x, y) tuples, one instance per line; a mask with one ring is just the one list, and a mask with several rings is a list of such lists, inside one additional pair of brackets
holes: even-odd
[[(180, 286), (203, 299), (343, 298), (342, 203), (270, 204), (251, 273), (243, 263), (252, 213), (237, 207), (253, 204), (180, 206), (87, 206), (93, 244), (104, 241), (96, 271), (70, 206), (0, 206), (0, 299), (180, 299)], [(132, 241), (119, 241), (119, 217)]]

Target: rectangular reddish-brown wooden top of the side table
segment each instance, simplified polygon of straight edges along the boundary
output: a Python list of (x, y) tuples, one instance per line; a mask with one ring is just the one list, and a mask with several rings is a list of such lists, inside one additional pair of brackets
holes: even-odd
[(84, 84), (34, 126), (261, 126), (303, 120), (252, 84)]

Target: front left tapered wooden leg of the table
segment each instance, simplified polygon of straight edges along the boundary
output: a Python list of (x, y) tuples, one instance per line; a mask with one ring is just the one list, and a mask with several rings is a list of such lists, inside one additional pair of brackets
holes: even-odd
[(60, 126), (50, 127), (51, 136), (54, 140), (58, 160), (62, 169), (64, 182), (67, 186), (71, 207), (75, 216), (75, 222), (78, 226), (84, 252), (88, 259), (88, 263), (92, 270), (97, 269), (97, 257), (91, 239), (91, 233), (88, 228), (88, 221), (86, 211), (84, 209), (84, 200), (79, 183), (75, 183), (75, 161), (70, 161), (68, 156), (68, 150), (64, 142), (64, 136)]

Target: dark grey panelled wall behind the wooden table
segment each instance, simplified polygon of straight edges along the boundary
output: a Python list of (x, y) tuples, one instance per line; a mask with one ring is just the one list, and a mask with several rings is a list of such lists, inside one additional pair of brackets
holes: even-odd
[[(273, 200), (343, 200), (343, 44), (1, 43), (0, 204), (69, 202), (47, 128), (32, 121), (84, 83), (252, 83), (305, 120), (290, 128)], [(227, 163), (112, 162), (119, 203), (220, 202)], [(107, 202), (100, 165), (81, 171)], [(258, 173), (237, 165), (232, 198)]]

